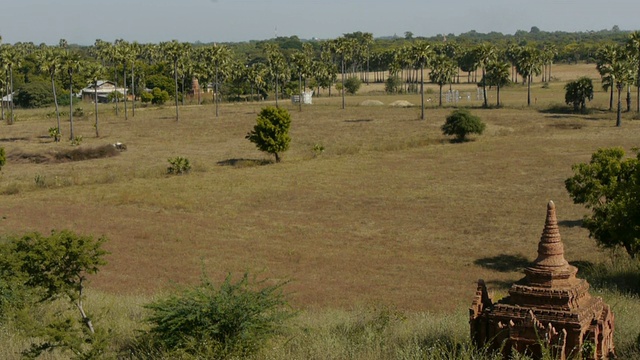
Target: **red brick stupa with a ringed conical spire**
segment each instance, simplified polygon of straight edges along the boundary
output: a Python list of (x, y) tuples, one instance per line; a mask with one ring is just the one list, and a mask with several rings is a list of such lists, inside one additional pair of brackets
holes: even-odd
[(509, 295), (493, 302), (483, 280), (469, 309), (471, 339), (478, 347), (513, 350), (540, 358), (544, 349), (554, 359), (615, 357), (614, 316), (609, 305), (589, 294), (589, 283), (564, 258), (553, 201), (538, 244), (537, 259), (524, 270)]

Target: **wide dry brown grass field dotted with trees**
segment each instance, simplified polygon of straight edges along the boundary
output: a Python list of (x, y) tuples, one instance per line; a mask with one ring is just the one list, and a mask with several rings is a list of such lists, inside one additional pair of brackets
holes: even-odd
[[(453, 144), (440, 131), (450, 106), (429, 103), (426, 121), (418, 95), (319, 97), (291, 111), (291, 148), (279, 164), (244, 137), (265, 103), (148, 107), (115, 116), (101, 105), (101, 137), (94, 137), (93, 105), (77, 118), (81, 147), (123, 142), (118, 156), (35, 163), (37, 154), (69, 150), (53, 143), (47, 110), (18, 110), (0, 126), (8, 161), (0, 173), (0, 228), (4, 234), (71, 229), (104, 235), (111, 252), (89, 287), (116, 295), (154, 294), (175, 283), (195, 283), (203, 269), (215, 280), (228, 272), (290, 279), (298, 308), (387, 304), (406, 310), (449, 311), (466, 306), (478, 278), (496, 294), (520, 278), (536, 256), (554, 200), (569, 261), (599, 262), (582, 229), (587, 210), (564, 189), (571, 165), (599, 147), (639, 145), (640, 121), (606, 111), (599, 90), (588, 115), (546, 111), (564, 100), (564, 82), (595, 78), (593, 65), (559, 65), (558, 80), (537, 82), (531, 107), (526, 87), (502, 90), (501, 109), (480, 102), (460, 106), (487, 123), (484, 135)], [(464, 78), (463, 78), (464, 79)], [(378, 87), (378, 89), (376, 88)], [(454, 86), (475, 92), (475, 86)], [(437, 88), (430, 86), (437, 95)], [(336, 93), (337, 94), (337, 93)], [(490, 103), (495, 91), (489, 91)], [(634, 94), (635, 95), (635, 94)], [(379, 100), (383, 106), (360, 106)], [(64, 122), (63, 139), (68, 136)], [(314, 152), (322, 145), (323, 153)], [(193, 171), (166, 175), (167, 159), (187, 157)]]

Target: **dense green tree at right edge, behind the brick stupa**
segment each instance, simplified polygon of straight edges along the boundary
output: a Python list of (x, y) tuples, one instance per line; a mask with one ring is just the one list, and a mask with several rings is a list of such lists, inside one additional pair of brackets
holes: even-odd
[(591, 209), (583, 226), (605, 248), (623, 247), (631, 257), (640, 254), (640, 152), (625, 158), (622, 148), (599, 149), (589, 163), (572, 166), (565, 180), (576, 204)]

